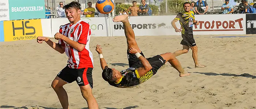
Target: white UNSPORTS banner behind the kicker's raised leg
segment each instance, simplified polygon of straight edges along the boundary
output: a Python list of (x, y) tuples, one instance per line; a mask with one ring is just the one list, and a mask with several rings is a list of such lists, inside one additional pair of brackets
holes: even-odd
[[(132, 16), (129, 22), (135, 36), (159, 36), (159, 35), (180, 35), (176, 33), (171, 25), (176, 16)], [(180, 24), (176, 23), (180, 28)], [(113, 36), (124, 36), (123, 23), (112, 23)]]

